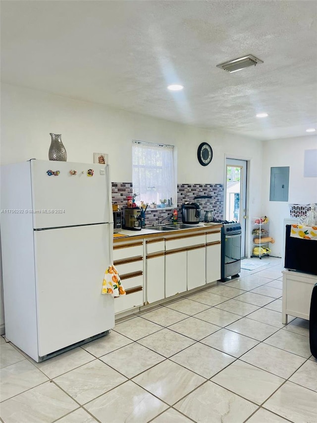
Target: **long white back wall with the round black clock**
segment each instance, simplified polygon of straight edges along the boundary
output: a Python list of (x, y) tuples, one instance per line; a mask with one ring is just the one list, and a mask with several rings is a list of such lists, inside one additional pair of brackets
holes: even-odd
[[(1, 164), (48, 159), (50, 132), (62, 134), (68, 161), (91, 163), (94, 152), (108, 153), (112, 181), (132, 181), (132, 139), (175, 145), (178, 183), (224, 183), (225, 157), (250, 160), (250, 213), (260, 213), (261, 141), (2, 84)], [(206, 167), (197, 160), (203, 141), (213, 149)]]

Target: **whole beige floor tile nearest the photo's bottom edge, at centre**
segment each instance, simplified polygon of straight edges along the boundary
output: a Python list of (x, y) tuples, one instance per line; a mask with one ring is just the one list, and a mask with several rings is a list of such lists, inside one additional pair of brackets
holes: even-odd
[(205, 382), (205, 378), (166, 360), (133, 378), (147, 391), (172, 405)]

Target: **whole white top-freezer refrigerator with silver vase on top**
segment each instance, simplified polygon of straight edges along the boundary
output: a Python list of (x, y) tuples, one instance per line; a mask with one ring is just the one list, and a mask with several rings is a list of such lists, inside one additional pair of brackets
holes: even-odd
[(5, 336), (40, 362), (108, 333), (113, 297), (109, 166), (30, 160), (1, 167)]

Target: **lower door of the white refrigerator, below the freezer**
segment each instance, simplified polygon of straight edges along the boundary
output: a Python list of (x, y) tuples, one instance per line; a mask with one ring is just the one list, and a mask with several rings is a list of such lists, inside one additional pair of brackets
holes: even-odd
[(102, 284), (113, 225), (34, 231), (39, 357), (114, 327)]

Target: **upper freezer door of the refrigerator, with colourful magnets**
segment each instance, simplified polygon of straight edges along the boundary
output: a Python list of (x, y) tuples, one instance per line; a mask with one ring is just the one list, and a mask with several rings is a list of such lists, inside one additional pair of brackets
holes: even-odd
[(30, 164), (34, 229), (113, 222), (109, 165), (46, 160)]

